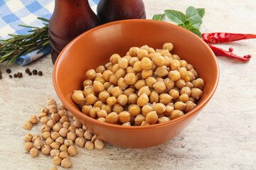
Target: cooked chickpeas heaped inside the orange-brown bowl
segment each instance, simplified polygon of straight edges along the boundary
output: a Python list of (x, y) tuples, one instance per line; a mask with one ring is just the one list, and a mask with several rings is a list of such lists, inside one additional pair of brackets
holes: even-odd
[(86, 72), (84, 89), (72, 99), (82, 113), (105, 123), (153, 125), (191, 111), (203, 94), (204, 81), (193, 65), (162, 49), (131, 47), (124, 57), (114, 54), (105, 66)]

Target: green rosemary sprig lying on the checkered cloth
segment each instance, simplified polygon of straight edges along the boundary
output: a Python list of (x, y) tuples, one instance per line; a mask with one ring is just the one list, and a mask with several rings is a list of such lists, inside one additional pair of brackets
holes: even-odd
[(8, 61), (6, 66), (9, 66), (11, 62), (15, 62), (21, 55), (26, 55), (36, 49), (41, 52), (50, 44), (48, 35), (49, 21), (45, 18), (38, 17), (38, 19), (46, 22), (43, 23), (44, 26), (42, 28), (18, 25), (33, 28), (33, 30), (28, 30), (28, 33), (30, 33), (28, 35), (9, 34), (12, 38), (0, 40), (0, 62)]

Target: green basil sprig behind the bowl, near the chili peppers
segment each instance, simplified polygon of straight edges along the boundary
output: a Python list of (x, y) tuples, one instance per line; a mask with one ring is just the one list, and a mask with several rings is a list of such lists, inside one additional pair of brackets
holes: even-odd
[(164, 14), (156, 14), (153, 16), (153, 20), (163, 21), (164, 16), (167, 16), (169, 20), (177, 23), (178, 26), (182, 28), (186, 28), (190, 30), (192, 33), (198, 35), (198, 37), (202, 38), (202, 34), (198, 29), (203, 23), (202, 18), (205, 14), (204, 8), (195, 8), (193, 6), (189, 6), (186, 9), (186, 14), (181, 11), (175, 11), (171, 9), (166, 9)]

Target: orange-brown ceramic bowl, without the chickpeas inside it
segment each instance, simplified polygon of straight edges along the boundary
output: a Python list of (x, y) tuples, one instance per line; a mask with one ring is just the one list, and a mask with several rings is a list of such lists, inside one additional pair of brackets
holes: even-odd
[[(166, 123), (127, 127), (90, 118), (71, 100), (73, 91), (83, 88), (85, 72), (109, 62), (112, 54), (124, 56), (129, 47), (142, 45), (161, 48), (164, 42), (172, 42), (172, 52), (193, 64), (205, 81), (203, 96), (192, 111)], [(60, 53), (53, 69), (53, 85), (64, 106), (100, 139), (129, 148), (153, 147), (178, 135), (210, 101), (218, 80), (218, 62), (201, 38), (171, 23), (142, 19), (115, 21), (82, 33)]]

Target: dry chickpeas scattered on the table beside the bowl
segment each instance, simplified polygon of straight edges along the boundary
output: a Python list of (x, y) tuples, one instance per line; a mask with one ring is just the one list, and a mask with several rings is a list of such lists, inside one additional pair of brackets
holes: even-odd
[[(89, 150), (102, 149), (104, 146), (102, 140), (87, 130), (85, 125), (82, 125), (72, 113), (66, 110), (63, 103), (60, 103), (58, 107), (55, 100), (48, 98), (47, 105), (48, 108), (42, 107), (37, 117), (31, 115), (29, 120), (23, 123), (24, 129), (31, 130), (33, 124), (38, 123), (38, 118), (41, 122), (41, 135), (37, 133), (31, 135), (28, 132), (23, 139), (24, 148), (30, 152), (32, 157), (37, 157), (41, 149), (43, 154), (50, 154), (53, 157), (53, 164), (68, 168), (71, 166), (68, 156), (74, 157), (78, 153), (75, 145)], [(50, 116), (48, 116), (49, 113)], [(57, 169), (57, 167), (53, 166), (52, 169)]]

